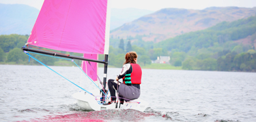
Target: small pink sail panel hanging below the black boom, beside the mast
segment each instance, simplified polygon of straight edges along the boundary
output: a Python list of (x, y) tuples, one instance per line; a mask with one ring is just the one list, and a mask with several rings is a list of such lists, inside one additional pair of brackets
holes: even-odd
[[(98, 60), (98, 54), (83, 54), (84, 58), (89, 58), (89, 59), (94, 59), (94, 60)], [(90, 66), (91, 64), (91, 66)], [(83, 61), (82, 63), (82, 68), (83, 71), (85, 71), (85, 73), (93, 80), (93, 81), (97, 81), (97, 76), (98, 76), (98, 63), (96, 62), (87, 62), (87, 61)]]

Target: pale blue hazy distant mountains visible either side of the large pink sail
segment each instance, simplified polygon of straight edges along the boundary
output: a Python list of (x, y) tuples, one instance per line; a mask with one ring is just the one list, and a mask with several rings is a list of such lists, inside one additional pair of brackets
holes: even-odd
[[(0, 3), (0, 35), (29, 35), (39, 12), (40, 10), (29, 5)], [(153, 12), (136, 8), (111, 8), (111, 30)]]

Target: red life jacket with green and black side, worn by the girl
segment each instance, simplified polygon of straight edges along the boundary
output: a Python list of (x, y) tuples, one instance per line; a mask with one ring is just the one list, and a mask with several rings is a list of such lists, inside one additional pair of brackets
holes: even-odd
[(132, 63), (130, 63), (130, 65), (132, 67), (132, 73), (126, 74), (126, 76), (123, 78), (124, 84), (141, 84), (141, 66), (139, 66), (139, 64)]

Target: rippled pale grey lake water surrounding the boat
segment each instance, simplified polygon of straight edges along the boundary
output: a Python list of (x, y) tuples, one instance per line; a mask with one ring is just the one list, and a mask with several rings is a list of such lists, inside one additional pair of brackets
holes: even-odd
[[(94, 87), (76, 66), (51, 68)], [(120, 71), (109, 68), (108, 79)], [(143, 69), (144, 113), (81, 110), (72, 98), (80, 89), (44, 66), (0, 65), (0, 77), (0, 121), (256, 121), (256, 73)]]

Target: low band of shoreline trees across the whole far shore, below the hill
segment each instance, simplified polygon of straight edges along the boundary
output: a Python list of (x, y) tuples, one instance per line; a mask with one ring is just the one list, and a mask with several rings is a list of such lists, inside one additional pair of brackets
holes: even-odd
[[(14, 40), (11, 41), (10, 39)], [(0, 62), (39, 64), (35, 60), (28, 62), (29, 57), (21, 51), (20, 47), (26, 43), (26, 40), (26, 35), (1, 35), (0, 43), (8, 46), (3, 47), (1, 45)], [(124, 39), (120, 39), (121, 44), (122, 41)], [(146, 49), (145, 47), (131, 45), (130, 41), (126, 41), (126, 43), (119, 46), (124, 48), (115, 48), (112, 45), (109, 47), (109, 64), (111, 66), (121, 67), (124, 63), (126, 52), (135, 51), (139, 55), (138, 63), (142, 66), (151, 64), (152, 60), (156, 60), (157, 56), (170, 56), (170, 64), (173, 66), (182, 66), (185, 70), (256, 71), (256, 52), (250, 46), (233, 45), (233, 48), (223, 50), (220, 45), (216, 45), (215, 43), (210, 48), (197, 49), (192, 46), (187, 53), (180, 52), (179, 50), (169, 52), (160, 47)], [(68, 52), (62, 53), (68, 54)], [(69, 54), (82, 56), (82, 54)], [(48, 56), (32, 55), (47, 65), (55, 65), (55, 62), (64, 61)], [(100, 56), (100, 59), (104, 60), (104, 56)], [(81, 61), (76, 61), (76, 63), (81, 64)]]

